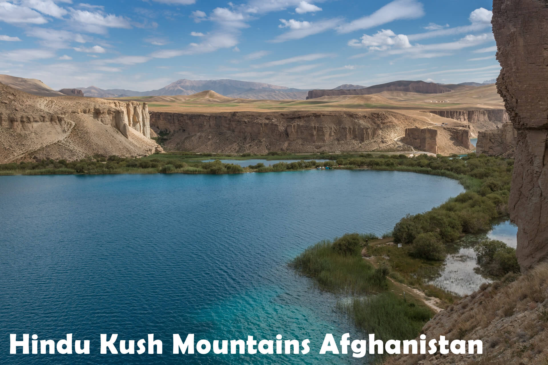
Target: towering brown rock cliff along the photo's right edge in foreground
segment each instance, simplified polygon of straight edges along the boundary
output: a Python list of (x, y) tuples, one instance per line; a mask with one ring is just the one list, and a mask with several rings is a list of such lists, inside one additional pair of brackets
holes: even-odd
[(548, 259), (548, 1), (494, 0), (493, 33), (502, 67), (496, 86), (517, 147), (510, 217), (522, 271)]

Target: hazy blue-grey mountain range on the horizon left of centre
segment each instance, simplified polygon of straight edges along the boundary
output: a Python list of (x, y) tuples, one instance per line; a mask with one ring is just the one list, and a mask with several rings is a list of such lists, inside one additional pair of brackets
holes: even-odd
[(123, 89), (100, 89), (96, 86), (77, 88), (90, 97), (132, 97), (132, 96), (164, 96), (192, 95), (204, 90), (212, 90), (218, 94), (242, 99), (305, 99), (308, 90), (290, 89), (264, 83), (254, 83), (239, 80), (177, 80), (162, 89), (150, 91), (134, 91)]

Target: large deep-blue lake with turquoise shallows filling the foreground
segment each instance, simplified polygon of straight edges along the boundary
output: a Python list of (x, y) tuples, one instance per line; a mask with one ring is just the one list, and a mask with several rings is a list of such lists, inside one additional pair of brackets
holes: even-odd
[[(322, 239), (383, 233), (463, 191), (445, 177), (370, 170), (0, 177), (0, 363), (362, 364), (318, 355), (326, 333), (361, 335), (288, 260)], [(91, 353), (8, 355), (10, 333), (73, 333)], [(100, 355), (101, 333), (154, 333), (164, 354)], [(173, 355), (173, 333), (279, 333), (310, 339), (311, 351)]]

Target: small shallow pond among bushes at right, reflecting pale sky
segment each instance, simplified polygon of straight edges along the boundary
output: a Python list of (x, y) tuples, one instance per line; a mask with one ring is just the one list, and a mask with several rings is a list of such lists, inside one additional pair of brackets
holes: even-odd
[(482, 283), (492, 282), (474, 270), (477, 256), (473, 247), (485, 239), (503, 241), (506, 245), (516, 248), (517, 226), (510, 221), (501, 222), (494, 224), (488, 233), (467, 235), (456, 242), (453, 247), (455, 252), (448, 254), (441, 275), (431, 283), (464, 296), (477, 291)]

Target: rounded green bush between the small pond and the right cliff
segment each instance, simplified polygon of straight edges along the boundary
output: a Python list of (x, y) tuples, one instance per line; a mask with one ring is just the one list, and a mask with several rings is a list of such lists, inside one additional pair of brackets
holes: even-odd
[(477, 254), (479, 271), (483, 274), (501, 277), (520, 272), (516, 249), (508, 247), (502, 241), (484, 240), (474, 247), (474, 251)]

